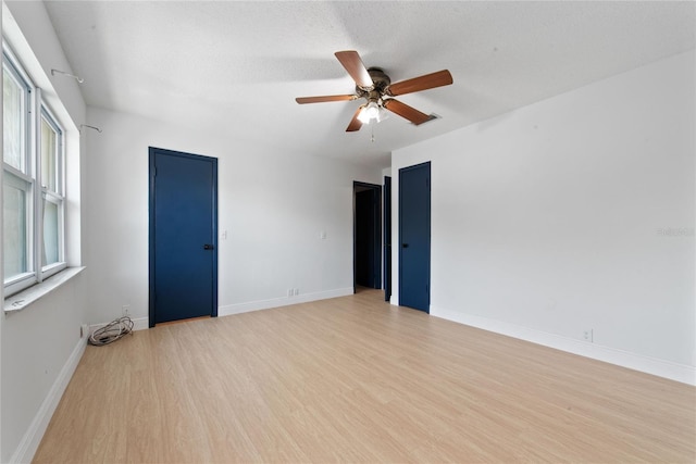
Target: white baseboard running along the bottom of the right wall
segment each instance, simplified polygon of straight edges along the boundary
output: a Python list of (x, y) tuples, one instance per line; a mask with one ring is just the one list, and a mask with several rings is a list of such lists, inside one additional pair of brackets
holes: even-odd
[(515, 324), (504, 323), (471, 314), (457, 313), (433, 305), (431, 305), (431, 315), (496, 334), (506, 335), (508, 337), (531, 341), (544, 347), (555, 348), (557, 350), (591, 358), (593, 360), (604, 361), (606, 363), (616, 364), (630, 369), (656, 375), (658, 377), (676, 380), (682, 384), (696, 386), (696, 367), (693, 366), (658, 360), (584, 340), (576, 340), (569, 337), (548, 334)]

